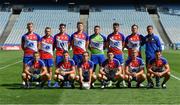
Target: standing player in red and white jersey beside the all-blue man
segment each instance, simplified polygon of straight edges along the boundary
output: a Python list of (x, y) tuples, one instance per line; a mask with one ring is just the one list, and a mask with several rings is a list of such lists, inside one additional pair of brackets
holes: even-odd
[(128, 49), (128, 56), (132, 54), (132, 50), (136, 49), (138, 51), (138, 57), (141, 58), (141, 47), (144, 44), (144, 36), (138, 34), (138, 25), (134, 24), (131, 26), (132, 34), (126, 37), (125, 47)]

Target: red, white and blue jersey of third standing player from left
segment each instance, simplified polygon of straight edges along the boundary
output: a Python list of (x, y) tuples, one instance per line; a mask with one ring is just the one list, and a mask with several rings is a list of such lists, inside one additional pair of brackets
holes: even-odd
[(54, 36), (54, 47), (56, 48), (56, 56), (62, 56), (64, 51), (68, 51), (71, 38), (68, 34), (56, 34)]

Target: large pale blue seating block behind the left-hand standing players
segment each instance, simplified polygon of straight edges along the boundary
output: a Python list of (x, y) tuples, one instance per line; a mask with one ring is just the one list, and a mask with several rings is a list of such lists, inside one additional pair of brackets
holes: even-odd
[(21, 36), (27, 32), (26, 24), (33, 22), (35, 32), (44, 35), (45, 27), (52, 28), (52, 34), (59, 32), (59, 24), (65, 23), (67, 25), (67, 33), (72, 34), (76, 31), (76, 23), (79, 21), (78, 12), (68, 12), (67, 7), (56, 6), (27, 6), (25, 9), (31, 8), (32, 11), (22, 11), (18, 20), (15, 22), (13, 29), (5, 41), (5, 45), (20, 44)]

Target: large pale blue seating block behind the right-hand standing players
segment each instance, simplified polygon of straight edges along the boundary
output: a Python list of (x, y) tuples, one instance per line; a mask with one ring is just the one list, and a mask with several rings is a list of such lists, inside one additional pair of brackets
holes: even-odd
[[(89, 13), (89, 34), (93, 33), (93, 26), (100, 25), (102, 27), (102, 33), (108, 35), (112, 32), (112, 24), (114, 22), (121, 24), (122, 33), (126, 36), (131, 34), (131, 26), (133, 24), (139, 26), (139, 32), (143, 35), (147, 34), (146, 27), (148, 25), (154, 26), (148, 12), (136, 11), (136, 9), (131, 5), (122, 7), (99, 7), (99, 9), (101, 9), (101, 11)], [(154, 33), (159, 35), (156, 28), (154, 28)], [(161, 37), (160, 40), (163, 43)]]

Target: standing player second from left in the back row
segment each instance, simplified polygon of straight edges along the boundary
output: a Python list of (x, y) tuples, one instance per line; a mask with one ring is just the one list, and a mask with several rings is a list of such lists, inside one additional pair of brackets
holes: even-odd
[(48, 87), (51, 87), (52, 78), (52, 67), (53, 67), (53, 37), (51, 36), (51, 28), (45, 28), (45, 35), (41, 38), (40, 42), (40, 55), (41, 59), (44, 61), (50, 78), (48, 80)]

